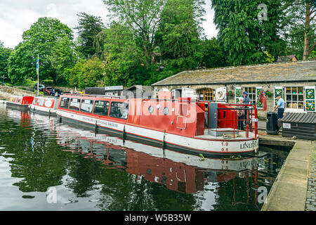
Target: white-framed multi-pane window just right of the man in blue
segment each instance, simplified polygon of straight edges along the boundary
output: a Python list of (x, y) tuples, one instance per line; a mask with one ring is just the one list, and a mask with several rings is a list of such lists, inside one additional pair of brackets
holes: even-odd
[(285, 87), (285, 99), (287, 108), (304, 110), (303, 86)]

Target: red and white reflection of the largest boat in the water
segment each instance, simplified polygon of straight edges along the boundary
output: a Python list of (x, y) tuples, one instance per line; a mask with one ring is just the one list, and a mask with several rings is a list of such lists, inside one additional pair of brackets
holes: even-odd
[(65, 150), (95, 158), (107, 168), (143, 176), (148, 181), (183, 193), (202, 191), (208, 181), (223, 182), (236, 176), (248, 176), (249, 170), (258, 163), (257, 158), (200, 158), (63, 125), (57, 126), (56, 131), (58, 143), (67, 148)]

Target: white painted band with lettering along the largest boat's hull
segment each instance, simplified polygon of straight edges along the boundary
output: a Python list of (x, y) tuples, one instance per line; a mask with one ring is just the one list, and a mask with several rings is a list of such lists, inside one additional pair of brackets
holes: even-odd
[[(164, 134), (163, 131), (156, 131), (152, 129), (146, 129), (143, 127), (136, 127), (131, 125), (124, 125), (119, 122), (111, 122), (107, 120), (100, 120), (93, 117), (86, 117), (84, 115), (77, 115), (74, 113), (68, 113), (62, 110), (57, 110), (57, 115), (61, 117), (67, 117), (72, 120), (79, 120), (80, 122), (85, 122), (91, 125), (98, 124), (100, 127), (105, 127), (107, 129), (114, 129), (120, 132), (124, 131), (127, 134), (133, 134), (136, 136), (142, 136), (147, 139), (154, 139), (156, 141), (166, 141), (171, 145), (180, 146), (183, 148), (190, 148), (194, 150), (205, 151), (208, 153), (245, 153), (251, 152), (258, 149), (258, 139), (247, 139), (246, 141), (241, 140), (205, 140), (205, 139), (195, 139), (187, 136), (180, 136), (176, 134)], [(165, 135), (165, 137), (164, 137)], [(245, 139), (244, 139), (245, 140)]]

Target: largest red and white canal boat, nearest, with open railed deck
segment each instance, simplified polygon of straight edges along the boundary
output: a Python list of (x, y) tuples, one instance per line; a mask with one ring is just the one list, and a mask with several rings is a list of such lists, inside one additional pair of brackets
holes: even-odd
[(249, 110), (244, 130), (237, 128), (237, 105), (191, 98), (62, 95), (57, 115), (61, 120), (84, 124), (98, 132), (171, 150), (204, 156), (242, 155), (258, 149), (256, 108), (244, 106)]

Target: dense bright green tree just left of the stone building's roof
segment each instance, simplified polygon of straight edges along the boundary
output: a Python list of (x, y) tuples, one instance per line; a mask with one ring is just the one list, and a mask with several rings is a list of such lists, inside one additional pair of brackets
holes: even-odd
[(96, 38), (96, 53), (106, 64), (106, 84), (143, 84), (148, 79), (146, 58), (128, 25), (112, 23)]

